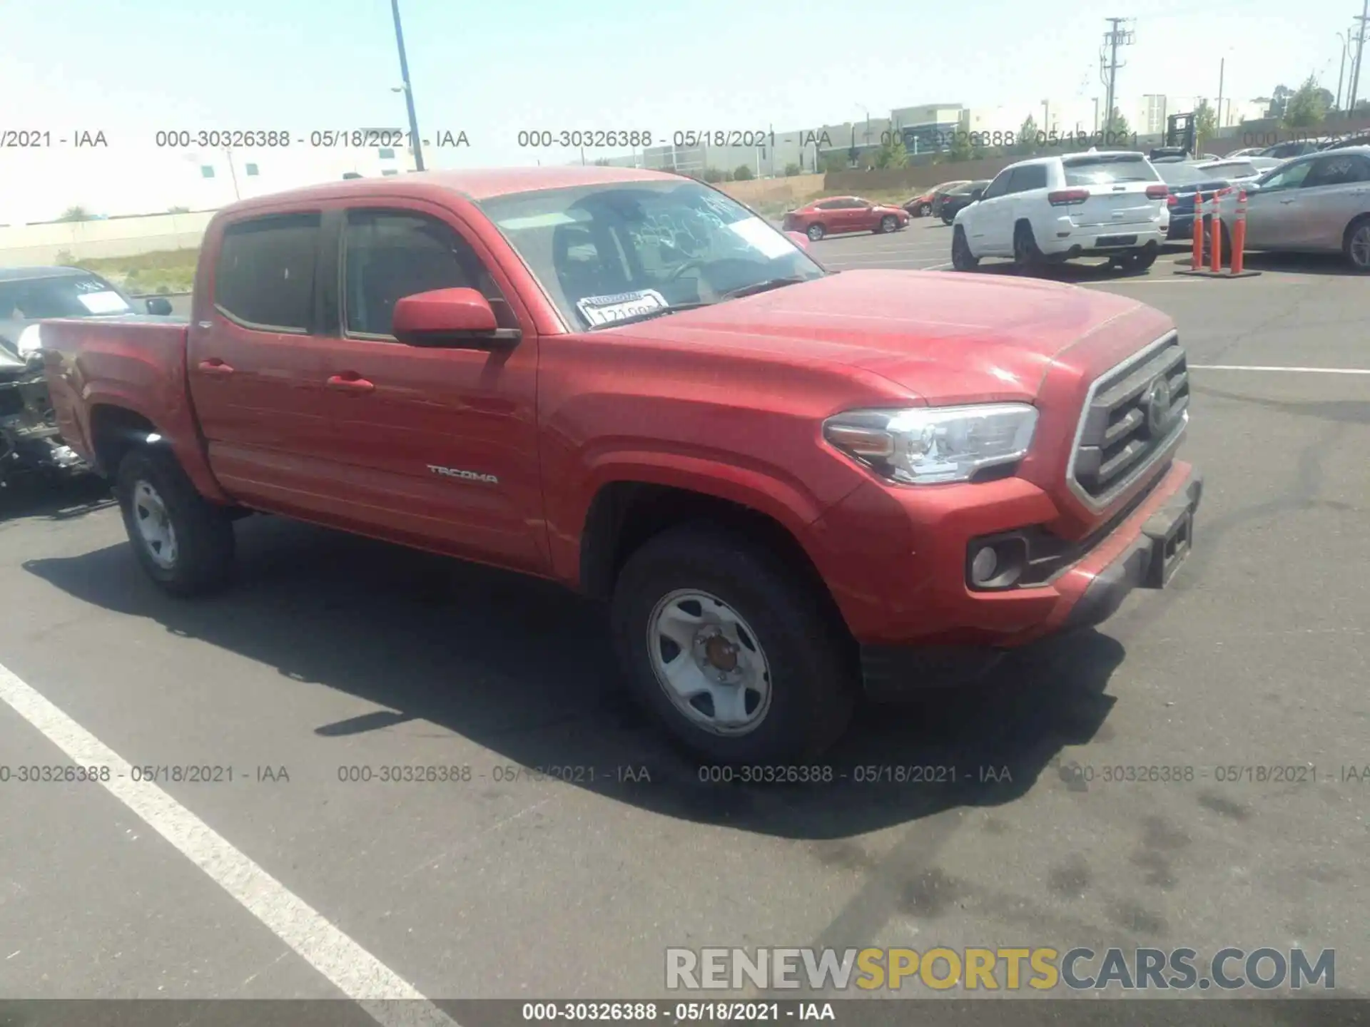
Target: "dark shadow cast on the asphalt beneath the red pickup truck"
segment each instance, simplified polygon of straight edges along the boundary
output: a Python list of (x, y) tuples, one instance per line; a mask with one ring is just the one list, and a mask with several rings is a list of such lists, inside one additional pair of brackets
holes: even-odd
[[(1123, 656), (1092, 631), (1052, 639), (975, 685), (863, 708), (818, 764), (826, 783), (721, 783), (666, 744), (623, 693), (596, 604), (545, 582), (284, 519), (237, 527), (237, 585), (206, 600), (163, 596), (123, 544), (25, 568), (85, 603), (390, 711), (316, 724), (318, 735), (345, 739), (422, 719), (490, 749), (492, 763), (596, 767), (593, 781), (569, 779), (663, 815), (777, 837), (845, 838), (948, 808), (1010, 802), (1043, 771), (1069, 776), (1060, 748), (1099, 730), (1114, 702), (1104, 687)], [(651, 779), (625, 782), (604, 770), (618, 767), (633, 776), (645, 767)]]

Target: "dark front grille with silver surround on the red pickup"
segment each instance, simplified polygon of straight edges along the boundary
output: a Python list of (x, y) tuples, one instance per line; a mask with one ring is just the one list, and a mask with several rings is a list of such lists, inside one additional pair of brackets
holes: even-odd
[(1149, 468), (1189, 419), (1189, 366), (1174, 333), (1097, 378), (1085, 396), (1071, 487), (1103, 507)]

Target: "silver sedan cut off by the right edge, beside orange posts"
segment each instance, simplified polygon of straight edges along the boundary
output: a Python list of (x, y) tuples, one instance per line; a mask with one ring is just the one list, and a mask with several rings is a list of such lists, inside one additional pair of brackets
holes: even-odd
[[(1247, 249), (1343, 253), (1370, 274), (1370, 147), (1306, 153), (1286, 160), (1247, 190)], [(1230, 249), (1236, 192), (1221, 201)]]

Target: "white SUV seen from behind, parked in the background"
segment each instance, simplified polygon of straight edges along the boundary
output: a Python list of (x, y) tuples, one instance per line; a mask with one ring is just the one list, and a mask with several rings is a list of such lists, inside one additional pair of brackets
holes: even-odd
[(951, 260), (969, 271), (985, 256), (1029, 268), (1107, 256), (1143, 271), (1156, 262), (1170, 212), (1166, 183), (1145, 153), (1070, 153), (1010, 164), (956, 214)]

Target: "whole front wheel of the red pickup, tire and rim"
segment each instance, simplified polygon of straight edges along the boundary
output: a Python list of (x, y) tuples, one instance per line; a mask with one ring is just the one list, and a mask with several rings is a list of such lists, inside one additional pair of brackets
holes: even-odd
[(634, 697), (721, 764), (817, 756), (847, 728), (856, 687), (840, 626), (762, 546), (704, 526), (629, 557), (612, 598)]

